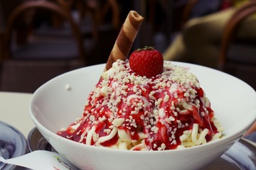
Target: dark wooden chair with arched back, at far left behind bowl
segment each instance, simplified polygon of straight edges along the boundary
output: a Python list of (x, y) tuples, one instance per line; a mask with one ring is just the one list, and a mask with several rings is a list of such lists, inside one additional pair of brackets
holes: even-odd
[[(60, 40), (55, 37), (28, 40), (28, 43), (22, 47), (12, 49), (14, 35), (12, 30), (17, 18), (25, 12), (38, 9), (53, 12), (68, 21), (73, 37)], [(4, 45), (1, 91), (33, 92), (49, 79), (72, 69), (84, 67), (87, 63), (78, 25), (68, 11), (49, 1), (25, 1), (17, 6), (6, 23)]]

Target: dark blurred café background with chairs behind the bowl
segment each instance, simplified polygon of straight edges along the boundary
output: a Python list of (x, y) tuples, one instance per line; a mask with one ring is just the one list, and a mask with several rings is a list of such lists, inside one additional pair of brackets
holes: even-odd
[(107, 62), (130, 10), (144, 16), (131, 52), (154, 46), (165, 60), (219, 69), (256, 89), (255, 1), (0, 0), (0, 91), (33, 93)]

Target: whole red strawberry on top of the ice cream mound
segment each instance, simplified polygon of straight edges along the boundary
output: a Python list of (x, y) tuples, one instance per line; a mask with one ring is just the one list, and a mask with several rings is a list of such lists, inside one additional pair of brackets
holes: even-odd
[(132, 52), (129, 64), (134, 72), (150, 78), (163, 72), (164, 58), (154, 47), (144, 47)]

